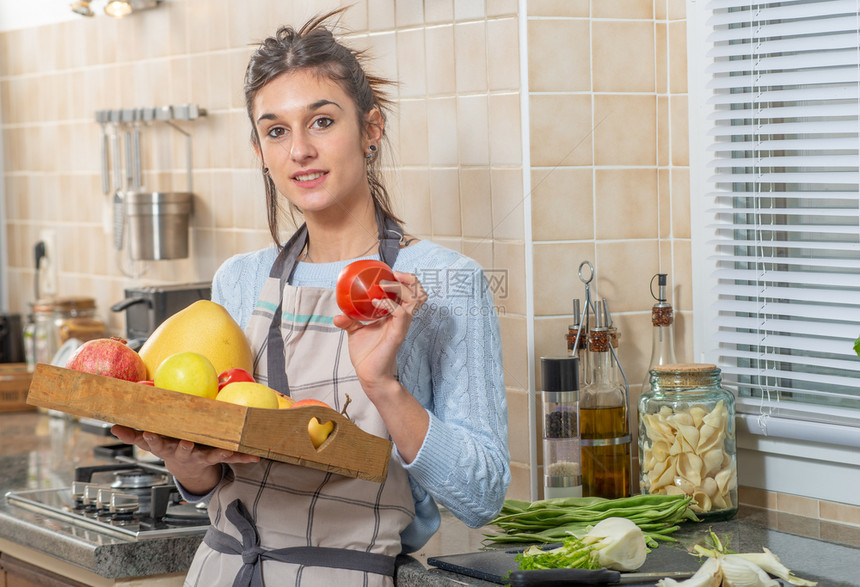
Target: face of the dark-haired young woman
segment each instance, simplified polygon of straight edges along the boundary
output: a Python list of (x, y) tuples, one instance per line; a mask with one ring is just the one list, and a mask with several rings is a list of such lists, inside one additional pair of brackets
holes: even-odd
[(258, 154), (278, 191), (304, 214), (366, 204), (365, 153), (379, 142), (374, 110), (362, 127), (352, 98), (335, 82), (299, 70), (266, 84), (254, 98)]

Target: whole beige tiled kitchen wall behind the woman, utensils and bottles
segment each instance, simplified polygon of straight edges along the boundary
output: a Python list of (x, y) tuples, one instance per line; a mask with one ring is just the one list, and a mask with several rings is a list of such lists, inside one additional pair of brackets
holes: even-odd
[[(576, 268), (594, 263), (595, 293), (610, 301), (622, 333), (635, 405), (650, 354), (648, 283), (667, 272), (678, 358), (693, 358), (684, 1), (528, 0), (526, 15), (518, 15), (517, 0), (348, 3), (355, 5), (344, 19), (351, 42), (370, 50), (375, 72), (399, 80), (388, 175), (407, 225), (509, 271), (497, 304), (511, 414), (510, 496), (529, 498), (532, 369), (540, 388), (526, 346), (529, 286), (534, 356), (562, 354), (571, 299), (583, 295)], [(58, 237), (60, 293), (94, 296), (120, 334), (123, 317), (107, 308), (125, 287), (210, 279), (229, 255), (268, 244), (241, 79), (250, 44), (275, 23), (303, 22), (310, 4), (174, 0), (121, 21), (0, 34), (11, 310), (32, 301), (32, 246), (43, 228)], [(313, 10), (340, 4), (317, 0)], [(525, 178), (519, 18), (528, 35)], [(93, 112), (182, 103), (208, 110), (182, 125), (194, 144), (192, 257), (131, 263), (103, 228), (109, 202), (100, 189)], [(147, 186), (184, 185), (178, 133), (148, 127), (143, 147)], [(516, 278), (526, 263), (526, 207), (533, 284)], [(762, 507), (780, 497), (742, 495)], [(782, 499), (794, 504), (790, 497)], [(837, 506), (822, 503), (818, 515), (841, 516)]]

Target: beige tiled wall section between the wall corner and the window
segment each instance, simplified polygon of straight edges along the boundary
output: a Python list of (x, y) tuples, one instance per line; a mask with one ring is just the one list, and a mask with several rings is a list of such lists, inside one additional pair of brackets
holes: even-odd
[(677, 358), (692, 359), (684, 4), (531, 0), (527, 18), (537, 389), (539, 358), (566, 352), (589, 261), (635, 414), (655, 273), (669, 274)]

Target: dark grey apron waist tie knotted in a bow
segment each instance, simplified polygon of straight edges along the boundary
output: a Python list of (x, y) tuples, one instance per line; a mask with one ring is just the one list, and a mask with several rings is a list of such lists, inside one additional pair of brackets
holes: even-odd
[(266, 550), (260, 547), (257, 528), (240, 500), (236, 499), (230, 503), (226, 513), (227, 519), (242, 534), (242, 542), (214, 526), (209, 526), (206, 530), (203, 542), (222, 554), (242, 556), (242, 568), (233, 580), (233, 587), (263, 587), (262, 563), (268, 559), (310, 567), (349, 569), (394, 576), (395, 558), (384, 554), (323, 546), (292, 546)]

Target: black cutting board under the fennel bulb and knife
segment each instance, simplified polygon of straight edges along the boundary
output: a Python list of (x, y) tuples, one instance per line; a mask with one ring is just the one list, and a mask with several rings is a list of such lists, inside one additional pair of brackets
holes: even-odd
[[(508, 573), (518, 569), (517, 554), (521, 551), (522, 548), (507, 548), (469, 552), (466, 554), (434, 556), (427, 559), (427, 564), (444, 571), (504, 585), (507, 583), (505, 577), (507, 577)], [(637, 572), (694, 572), (699, 568), (700, 564), (700, 561), (695, 556), (691, 556), (683, 548), (679, 548), (674, 544), (661, 544), (658, 548), (651, 549), (648, 558), (645, 559), (645, 564), (637, 569)], [(654, 585), (654, 583), (652, 581), (650, 583), (641, 583), (641, 585)]]

